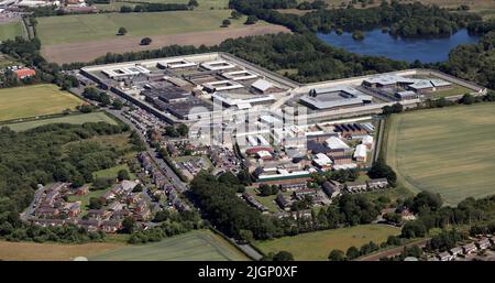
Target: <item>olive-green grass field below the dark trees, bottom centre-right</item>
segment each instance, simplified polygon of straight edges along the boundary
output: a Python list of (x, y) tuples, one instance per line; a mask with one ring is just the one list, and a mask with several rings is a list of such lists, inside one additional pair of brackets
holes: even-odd
[(360, 248), (370, 241), (380, 244), (386, 241), (388, 236), (399, 232), (400, 229), (397, 227), (361, 225), (257, 241), (255, 246), (265, 253), (282, 250), (292, 252), (295, 260), (327, 260), (332, 249), (340, 249), (345, 252), (352, 246)]

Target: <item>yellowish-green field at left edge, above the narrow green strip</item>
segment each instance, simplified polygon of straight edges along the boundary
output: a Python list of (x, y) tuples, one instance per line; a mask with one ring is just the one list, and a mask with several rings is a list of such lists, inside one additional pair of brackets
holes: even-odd
[(61, 113), (82, 102), (55, 85), (3, 88), (0, 89), (0, 121)]

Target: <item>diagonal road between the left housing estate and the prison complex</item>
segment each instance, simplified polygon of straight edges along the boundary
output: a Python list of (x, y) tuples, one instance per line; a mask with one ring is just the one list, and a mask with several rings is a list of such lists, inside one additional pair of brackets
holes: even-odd
[(146, 142), (146, 137), (143, 135), (143, 133), (135, 127), (133, 122), (131, 122), (128, 118), (125, 118), (122, 115), (122, 110), (114, 110), (114, 109), (107, 109), (108, 112), (117, 117), (119, 120), (125, 122), (131, 127), (131, 129), (135, 130), (141, 139), (145, 141), (146, 151), (150, 154), (150, 156), (153, 159), (153, 161), (158, 165), (158, 167), (165, 173), (165, 175), (168, 177), (168, 179), (174, 184), (174, 186), (179, 189), (182, 193), (186, 192), (188, 189), (188, 186), (186, 183), (184, 183), (177, 174), (168, 166), (167, 163), (165, 163), (164, 160), (158, 157), (158, 152), (156, 152), (155, 149), (150, 146), (150, 144)]

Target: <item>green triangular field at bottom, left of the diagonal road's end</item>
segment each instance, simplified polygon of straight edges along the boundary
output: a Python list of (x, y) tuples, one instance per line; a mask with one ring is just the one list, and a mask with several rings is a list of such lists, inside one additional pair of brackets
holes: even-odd
[(235, 247), (210, 230), (195, 230), (155, 243), (105, 252), (95, 261), (246, 261)]

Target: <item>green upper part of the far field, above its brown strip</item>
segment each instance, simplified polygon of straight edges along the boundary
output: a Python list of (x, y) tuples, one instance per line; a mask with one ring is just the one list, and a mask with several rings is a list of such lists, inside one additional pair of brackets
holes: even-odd
[[(220, 28), (231, 10), (170, 11), (152, 13), (100, 13), (43, 17), (37, 19), (37, 35), (44, 45), (117, 39), (213, 31)], [(244, 26), (244, 19), (232, 20), (232, 28)], [(263, 22), (260, 21), (260, 24)], [(67, 32), (70, 31), (70, 32)]]

